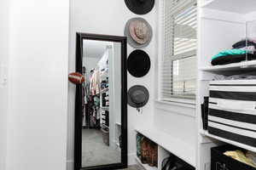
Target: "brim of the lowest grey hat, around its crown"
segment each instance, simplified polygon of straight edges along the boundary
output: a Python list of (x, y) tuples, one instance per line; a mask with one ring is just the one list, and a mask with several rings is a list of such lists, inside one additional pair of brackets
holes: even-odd
[[(131, 94), (133, 94), (133, 93), (136, 92), (137, 90), (143, 91), (143, 93), (144, 93), (145, 96), (146, 96), (146, 99), (145, 99), (145, 100), (143, 101), (143, 103), (141, 103), (141, 104), (136, 104), (136, 103), (134, 103), (134, 102), (132, 101), (132, 99), (131, 99)], [(127, 99), (128, 105), (131, 105), (131, 107), (140, 108), (140, 107), (143, 107), (144, 105), (147, 105), (147, 103), (148, 103), (148, 99), (149, 99), (148, 89), (145, 88), (145, 87), (143, 87), (143, 86), (141, 86), (141, 85), (136, 85), (136, 86), (131, 87), (131, 88), (129, 89), (127, 95), (128, 95), (128, 99)]]

